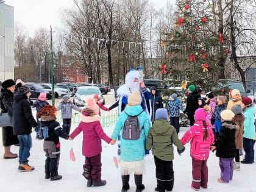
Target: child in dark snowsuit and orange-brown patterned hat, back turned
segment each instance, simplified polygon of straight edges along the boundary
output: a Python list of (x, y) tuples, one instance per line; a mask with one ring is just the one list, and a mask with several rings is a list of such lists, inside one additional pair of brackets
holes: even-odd
[(60, 160), (60, 140), (59, 137), (68, 139), (66, 133), (59, 122), (56, 121), (57, 109), (54, 106), (46, 105), (38, 112), (43, 127), (43, 151), (46, 160), (44, 165), (45, 179), (60, 180), (62, 176), (58, 174)]

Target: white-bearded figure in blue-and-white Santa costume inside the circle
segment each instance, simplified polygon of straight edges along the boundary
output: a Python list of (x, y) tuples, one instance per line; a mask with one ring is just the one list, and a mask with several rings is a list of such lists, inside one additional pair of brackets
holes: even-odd
[[(138, 82), (134, 82), (135, 79), (138, 79)], [(141, 94), (141, 107), (143, 108), (144, 112), (146, 112), (151, 117), (151, 93), (148, 91), (146, 87), (140, 87), (140, 84), (143, 82), (143, 73), (142, 68), (140, 67), (139, 70), (131, 69), (126, 74), (126, 81), (125, 84), (118, 88), (116, 91), (119, 95), (120, 99), (118, 101), (118, 113), (119, 115), (123, 112), (124, 108), (127, 105), (127, 99), (135, 90), (140, 91)], [(119, 135), (120, 137), (120, 135)], [(118, 137), (118, 155), (121, 154), (120, 151), (120, 142)], [(149, 151), (145, 149), (145, 154), (149, 154)]]

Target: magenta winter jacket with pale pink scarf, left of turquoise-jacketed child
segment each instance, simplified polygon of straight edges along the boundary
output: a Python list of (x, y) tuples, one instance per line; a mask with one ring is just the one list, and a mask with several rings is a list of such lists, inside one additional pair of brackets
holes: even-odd
[(83, 132), (82, 154), (85, 157), (93, 157), (101, 153), (101, 140), (107, 143), (111, 141), (111, 138), (102, 129), (100, 119), (99, 115), (81, 115), (81, 122), (70, 135), (71, 138), (75, 138), (80, 132)]

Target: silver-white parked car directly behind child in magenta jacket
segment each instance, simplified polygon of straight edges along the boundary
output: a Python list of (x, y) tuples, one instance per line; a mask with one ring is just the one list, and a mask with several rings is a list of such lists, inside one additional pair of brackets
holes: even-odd
[(73, 98), (73, 104), (84, 107), (85, 104), (85, 97), (86, 96), (94, 96), (94, 94), (99, 95), (99, 101), (102, 102), (102, 104), (105, 104), (105, 99), (102, 96), (101, 91), (99, 90), (99, 87), (96, 86), (81, 86), (77, 88), (76, 94), (74, 94)]

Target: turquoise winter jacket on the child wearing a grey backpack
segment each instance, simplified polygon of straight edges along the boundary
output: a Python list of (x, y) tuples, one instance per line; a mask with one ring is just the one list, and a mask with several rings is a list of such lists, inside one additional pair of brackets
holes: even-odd
[[(119, 133), (121, 133), (121, 160), (125, 162), (133, 162), (143, 160), (145, 155), (145, 141), (151, 126), (149, 116), (146, 112), (142, 112), (141, 105), (129, 106), (127, 105), (125, 112), (122, 112), (116, 122), (115, 129), (113, 130), (112, 139), (116, 140)], [(142, 112), (142, 113), (141, 113)], [(126, 121), (127, 114), (135, 116), (138, 115), (140, 124), (141, 135), (138, 140), (124, 140), (122, 137), (124, 122)]]

